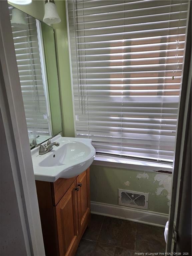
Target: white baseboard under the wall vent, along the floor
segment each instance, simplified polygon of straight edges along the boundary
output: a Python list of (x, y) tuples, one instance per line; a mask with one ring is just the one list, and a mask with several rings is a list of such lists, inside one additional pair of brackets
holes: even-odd
[(104, 204), (91, 201), (91, 213), (140, 222), (148, 225), (165, 227), (168, 214), (129, 208), (121, 205)]

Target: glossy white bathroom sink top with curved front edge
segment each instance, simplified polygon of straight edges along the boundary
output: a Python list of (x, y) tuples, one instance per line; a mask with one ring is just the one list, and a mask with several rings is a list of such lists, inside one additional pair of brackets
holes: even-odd
[(58, 178), (72, 178), (85, 171), (93, 162), (95, 149), (91, 139), (68, 138), (57, 135), (51, 142), (59, 146), (39, 155), (39, 148), (31, 150), (36, 180), (54, 182)]

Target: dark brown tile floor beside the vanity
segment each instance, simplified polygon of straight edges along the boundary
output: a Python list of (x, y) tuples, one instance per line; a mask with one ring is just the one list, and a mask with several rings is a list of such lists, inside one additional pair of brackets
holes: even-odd
[(91, 214), (75, 256), (135, 256), (165, 246), (163, 228)]

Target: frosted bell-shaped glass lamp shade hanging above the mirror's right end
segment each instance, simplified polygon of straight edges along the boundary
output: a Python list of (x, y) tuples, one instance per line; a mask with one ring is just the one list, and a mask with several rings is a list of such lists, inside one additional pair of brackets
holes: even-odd
[(57, 13), (56, 5), (52, 2), (45, 4), (45, 15), (43, 21), (47, 24), (55, 24), (61, 22)]

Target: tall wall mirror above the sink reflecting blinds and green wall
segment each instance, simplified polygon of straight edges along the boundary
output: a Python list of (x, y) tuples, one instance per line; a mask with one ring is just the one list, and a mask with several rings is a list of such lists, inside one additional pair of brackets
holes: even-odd
[(11, 5), (9, 13), (33, 148), (62, 132), (54, 29)]

